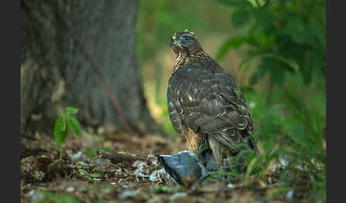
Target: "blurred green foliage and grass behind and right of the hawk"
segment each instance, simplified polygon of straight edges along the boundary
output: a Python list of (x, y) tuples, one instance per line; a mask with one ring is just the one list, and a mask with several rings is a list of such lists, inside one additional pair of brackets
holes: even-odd
[[(285, 157), (286, 172), (295, 171), (281, 189), (303, 184), (309, 197), (325, 202), (325, 1), (140, 1), (137, 52), (145, 95), (170, 135), (177, 133), (167, 113), (175, 59), (169, 39), (184, 29), (241, 85), (263, 165)], [(306, 168), (297, 170), (300, 164)], [(298, 180), (304, 175), (310, 182)]]

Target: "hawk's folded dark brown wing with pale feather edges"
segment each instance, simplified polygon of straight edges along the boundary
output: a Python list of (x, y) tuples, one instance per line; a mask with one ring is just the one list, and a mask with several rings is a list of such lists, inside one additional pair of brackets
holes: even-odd
[(183, 122), (234, 152), (246, 139), (258, 153), (251, 115), (235, 79), (221, 67), (202, 65), (183, 65), (169, 79), (167, 100), (174, 129), (182, 133)]

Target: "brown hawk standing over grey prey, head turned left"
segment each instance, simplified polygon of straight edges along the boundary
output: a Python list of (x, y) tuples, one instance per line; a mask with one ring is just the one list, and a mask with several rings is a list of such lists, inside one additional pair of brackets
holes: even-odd
[[(177, 58), (167, 89), (169, 119), (195, 153), (208, 146), (217, 163), (244, 148), (259, 154), (253, 121), (236, 80), (201, 48), (194, 33), (174, 33), (170, 46)], [(226, 152), (226, 153), (225, 153)]]

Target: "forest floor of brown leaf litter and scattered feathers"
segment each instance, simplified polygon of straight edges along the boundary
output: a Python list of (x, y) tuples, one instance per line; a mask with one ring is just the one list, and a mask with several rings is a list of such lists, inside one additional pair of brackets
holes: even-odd
[(271, 195), (275, 187), (258, 182), (167, 187), (154, 175), (162, 166), (153, 155), (184, 150), (182, 136), (106, 131), (69, 135), (62, 161), (53, 135), (22, 138), (21, 202), (296, 202), (289, 192), (278, 198)]

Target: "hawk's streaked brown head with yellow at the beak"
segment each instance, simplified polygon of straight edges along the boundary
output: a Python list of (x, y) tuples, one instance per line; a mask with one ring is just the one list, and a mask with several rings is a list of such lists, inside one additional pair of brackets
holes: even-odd
[(188, 30), (174, 33), (171, 37), (170, 45), (176, 54), (189, 55), (202, 50), (194, 33)]

